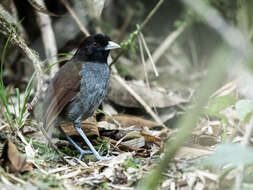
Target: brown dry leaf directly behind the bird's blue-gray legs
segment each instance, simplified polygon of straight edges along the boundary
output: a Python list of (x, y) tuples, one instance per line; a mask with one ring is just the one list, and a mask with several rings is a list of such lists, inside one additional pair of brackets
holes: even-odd
[[(94, 117), (82, 121), (81, 127), (87, 136), (99, 136), (97, 121)], [(69, 136), (79, 135), (72, 124), (61, 125), (61, 128)]]

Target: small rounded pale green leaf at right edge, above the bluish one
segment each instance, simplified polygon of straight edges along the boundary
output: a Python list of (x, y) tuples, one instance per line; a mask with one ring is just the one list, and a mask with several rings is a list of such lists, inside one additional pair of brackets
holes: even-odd
[(241, 121), (247, 121), (253, 112), (253, 100), (239, 100), (235, 104), (235, 111)]

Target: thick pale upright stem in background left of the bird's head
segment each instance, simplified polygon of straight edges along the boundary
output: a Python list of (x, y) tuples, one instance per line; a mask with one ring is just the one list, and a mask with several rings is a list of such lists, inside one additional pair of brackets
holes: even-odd
[[(44, 0), (37, 0), (37, 3), (45, 7)], [(51, 19), (47, 14), (43, 14), (40, 12), (36, 13), (37, 13), (37, 22), (40, 27), (48, 64), (51, 65), (57, 62), (57, 56), (55, 56), (57, 54), (57, 45), (51, 24)], [(50, 76), (53, 77), (58, 70), (59, 64), (50, 69)]]

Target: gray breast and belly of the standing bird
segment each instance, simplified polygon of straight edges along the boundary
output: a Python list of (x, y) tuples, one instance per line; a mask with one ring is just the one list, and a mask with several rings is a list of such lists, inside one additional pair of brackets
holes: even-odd
[(110, 79), (107, 64), (85, 63), (79, 74), (82, 77), (80, 92), (60, 113), (58, 123), (73, 122), (92, 116), (106, 96)]

